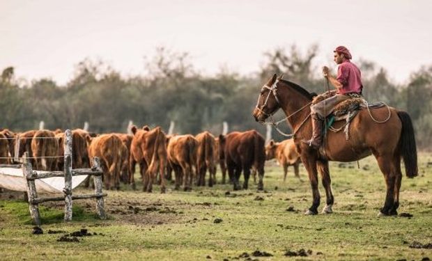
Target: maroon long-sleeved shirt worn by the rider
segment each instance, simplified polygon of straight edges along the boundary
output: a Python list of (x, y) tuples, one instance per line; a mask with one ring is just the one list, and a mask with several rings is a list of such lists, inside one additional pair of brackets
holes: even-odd
[(338, 89), (337, 93), (361, 93), (362, 92), (362, 79), (359, 68), (346, 60), (339, 65), (337, 69), (337, 81), (342, 84), (342, 88)]

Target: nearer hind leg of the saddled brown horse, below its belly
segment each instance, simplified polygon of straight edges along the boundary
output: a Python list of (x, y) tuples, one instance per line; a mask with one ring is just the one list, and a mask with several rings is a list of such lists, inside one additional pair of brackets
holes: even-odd
[(376, 156), (378, 166), (384, 175), (385, 184), (387, 185), (387, 193), (385, 196), (384, 207), (380, 209), (378, 215), (391, 215), (390, 210), (394, 208), (394, 187), (396, 183), (396, 173), (394, 170), (394, 164), (392, 157), (385, 155)]

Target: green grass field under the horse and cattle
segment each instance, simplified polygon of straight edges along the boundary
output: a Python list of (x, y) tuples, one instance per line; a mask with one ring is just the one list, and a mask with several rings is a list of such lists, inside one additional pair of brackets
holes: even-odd
[[(432, 259), (431, 248), (413, 248), (432, 245), (432, 155), (419, 155), (418, 177), (404, 174), (399, 214), (411, 218), (376, 216), (385, 183), (372, 157), (360, 161), (360, 168), (356, 162), (332, 163), (334, 214), (304, 216), (311, 189), (300, 169), (302, 181), (290, 169), (284, 183), (281, 167), (268, 162), (263, 192), (253, 180), (247, 191), (232, 191), (228, 184), (166, 194), (157, 186), (153, 193), (108, 191), (106, 221), (96, 218), (94, 200), (75, 200), (70, 223), (63, 223), (62, 203), (44, 203), (43, 235), (32, 235), (22, 193), (5, 191), (0, 193), (0, 260)], [(320, 211), (323, 192), (321, 187)], [(82, 228), (97, 235), (57, 241)], [(272, 256), (253, 255), (263, 253)]]

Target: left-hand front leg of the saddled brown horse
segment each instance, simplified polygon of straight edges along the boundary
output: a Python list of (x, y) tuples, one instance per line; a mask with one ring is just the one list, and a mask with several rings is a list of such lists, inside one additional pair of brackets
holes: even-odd
[(316, 171), (316, 156), (315, 155), (302, 155), (302, 161), (304, 167), (309, 175), (309, 181), (311, 182), (313, 202), (311, 207), (305, 212), (305, 215), (316, 215), (318, 214), (318, 206), (320, 205), (320, 191), (318, 190), (318, 173)]

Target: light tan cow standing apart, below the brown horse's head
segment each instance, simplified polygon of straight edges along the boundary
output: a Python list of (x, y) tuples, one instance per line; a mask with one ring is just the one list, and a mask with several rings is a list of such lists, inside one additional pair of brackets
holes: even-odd
[(295, 177), (298, 177), (300, 180), (298, 166), (302, 161), (300, 159), (300, 155), (297, 153), (293, 139), (287, 139), (279, 143), (270, 141), (270, 143), (265, 146), (265, 155), (267, 156), (268, 160), (276, 158), (282, 168), (284, 168), (284, 182), (286, 180), (288, 166), (294, 167)]

